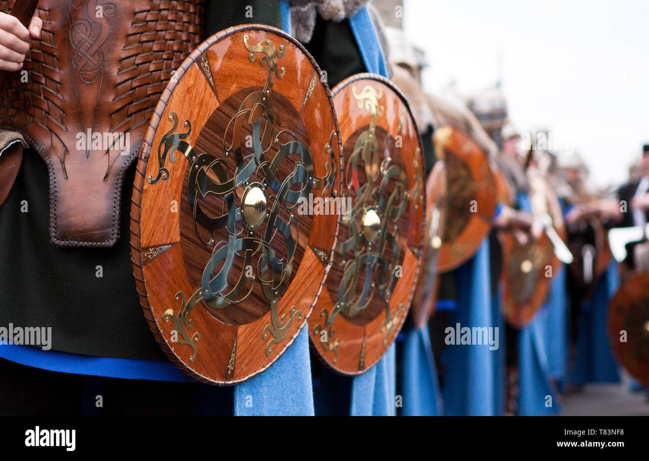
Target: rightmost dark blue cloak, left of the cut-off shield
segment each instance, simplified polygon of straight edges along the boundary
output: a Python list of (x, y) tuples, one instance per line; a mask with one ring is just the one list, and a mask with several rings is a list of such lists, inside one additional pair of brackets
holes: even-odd
[(582, 306), (578, 318), (577, 353), (570, 374), (572, 384), (620, 382), (620, 372), (606, 334), (606, 312), (620, 285), (615, 261), (596, 282), (593, 297)]

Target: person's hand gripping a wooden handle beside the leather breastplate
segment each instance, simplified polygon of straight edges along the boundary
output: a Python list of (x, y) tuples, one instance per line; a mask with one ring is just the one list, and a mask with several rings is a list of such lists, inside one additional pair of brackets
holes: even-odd
[(0, 12), (0, 70), (17, 71), (23, 68), (29, 51), (29, 39), (40, 38), (43, 21), (34, 16), (29, 30), (10, 14)]

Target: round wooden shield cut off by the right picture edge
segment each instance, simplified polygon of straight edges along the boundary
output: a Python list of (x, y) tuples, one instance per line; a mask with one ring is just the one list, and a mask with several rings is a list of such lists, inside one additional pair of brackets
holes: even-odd
[(613, 356), (630, 375), (649, 385), (649, 274), (624, 282), (611, 299), (607, 330)]

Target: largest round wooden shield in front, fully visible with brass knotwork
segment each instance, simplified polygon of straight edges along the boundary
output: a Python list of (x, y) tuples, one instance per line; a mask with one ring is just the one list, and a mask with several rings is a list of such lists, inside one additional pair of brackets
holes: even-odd
[(191, 377), (268, 368), (306, 324), (330, 267), (339, 191), (331, 93), (293, 38), (262, 25), (199, 45), (151, 119), (131, 242), (145, 316)]

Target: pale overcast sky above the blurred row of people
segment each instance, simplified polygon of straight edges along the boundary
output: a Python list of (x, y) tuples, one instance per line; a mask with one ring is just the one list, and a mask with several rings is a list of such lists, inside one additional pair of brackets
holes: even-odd
[(500, 77), (519, 131), (572, 143), (600, 186), (649, 143), (649, 1), (404, 0), (424, 88), (463, 95)]

